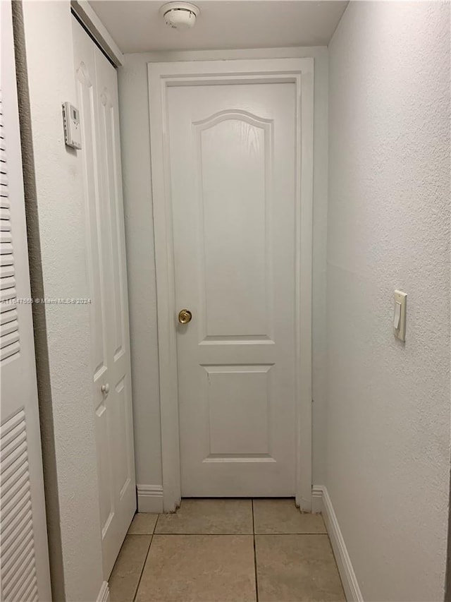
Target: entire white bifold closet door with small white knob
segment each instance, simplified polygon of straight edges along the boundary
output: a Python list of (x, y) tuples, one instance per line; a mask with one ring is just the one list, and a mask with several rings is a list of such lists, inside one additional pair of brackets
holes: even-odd
[(87, 258), (92, 310), (104, 577), (108, 579), (136, 509), (118, 83), (109, 63), (73, 20), (75, 79), (82, 125)]

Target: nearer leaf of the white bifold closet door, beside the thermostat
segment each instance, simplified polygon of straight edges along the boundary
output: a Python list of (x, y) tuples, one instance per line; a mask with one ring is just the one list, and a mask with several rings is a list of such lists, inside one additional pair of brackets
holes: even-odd
[(82, 150), (77, 151), (84, 175), (87, 275), (91, 299), (92, 399), (95, 412), (99, 508), (102, 546), (111, 548), (111, 524), (115, 517), (113, 487), (113, 440), (110, 437), (111, 404), (103, 392), (109, 382), (109, 272), (105, 259), (109, 250), (109, 228), (104, 219), (99, 164), (99, 116), (94, 46), (78, 23), (74, 24), (75, 81), (82, 128)]

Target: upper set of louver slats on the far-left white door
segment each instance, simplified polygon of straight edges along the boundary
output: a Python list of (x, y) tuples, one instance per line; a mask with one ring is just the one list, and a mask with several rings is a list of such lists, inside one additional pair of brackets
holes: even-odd
[(8, 164), (4, 135), (3, 104), (0, 90), (0, 362), (20, 351), (19, 324), (16, 308), (13, 236), (8, 191)]

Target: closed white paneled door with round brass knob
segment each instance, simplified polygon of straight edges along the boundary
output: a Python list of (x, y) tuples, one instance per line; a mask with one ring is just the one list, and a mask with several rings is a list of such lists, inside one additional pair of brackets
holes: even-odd
[(296, 492), (296, 90), (167, 90), (183, 496)]

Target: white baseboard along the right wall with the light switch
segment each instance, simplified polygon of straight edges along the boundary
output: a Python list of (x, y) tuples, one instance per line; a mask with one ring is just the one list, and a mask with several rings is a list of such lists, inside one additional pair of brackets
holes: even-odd
[[(359, 583), (357, 582), (357, 577), (355, 576), (352, 567), (350, 555), (347, 553), (345, 540), (340, 531), (340, 525), (338, 524), (326, 487), (322, 485), (313, 486), (311, 490), (311, 505), (312, 512), (319, 512), (321, 510), (323, 513), (323, 519), (326, 523), (330, 543), (332, 544), (335, 560), (337, 561), (338, 572), (340, 572), (347, 602), (364, 602)], [(316, 508), (319, 508), (320, 510), (316, 510)]]

